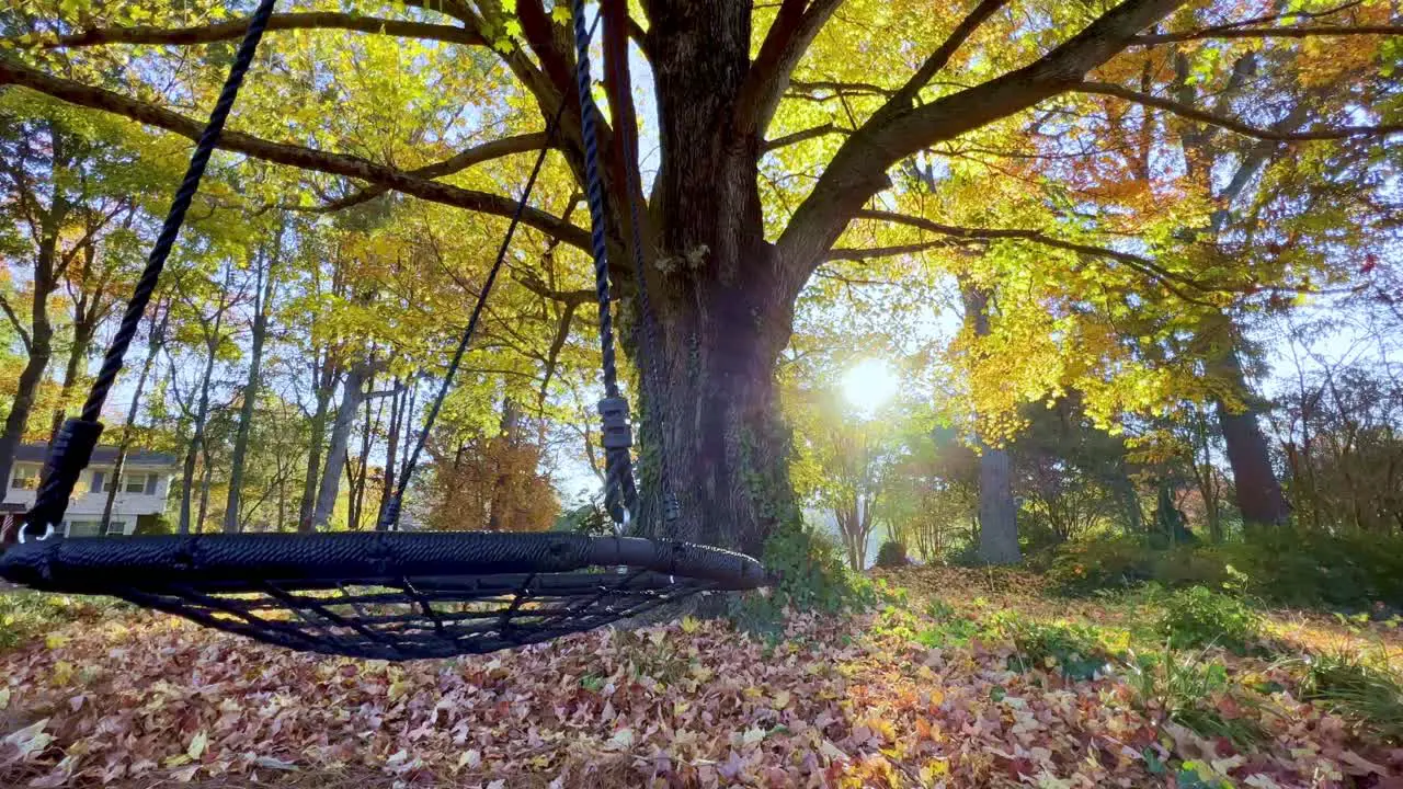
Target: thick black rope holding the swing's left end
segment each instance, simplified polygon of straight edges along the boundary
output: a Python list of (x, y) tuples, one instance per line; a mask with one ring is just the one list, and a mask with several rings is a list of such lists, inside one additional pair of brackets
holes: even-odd
[(87, 468), (93, 456), (97, 439), (102, 434), (102, 424), (98, 423), (98, 418), (102, 416), (102, 404), (112, 390), (112, 383), (116, 382), (116, 375), (122, 371), (122, 359), (126, 357), (126, 348), (132, 344), (132, 338), (136, 337), (136, 330), (142, 323), (142, 316), (146, 313), (146, 306), (152, 300), (152, 293), (156, 292), (161, 270), (166, 268), (166, 260), (170, 257), (181, 226), (185, 223), (185, 212), (189, 211), (189, 204), (195, 199), (195, 192), (199, 191), (199, 181), (205, 175), (205, 167), (209, 164), (209, 157), (219, 143), (220, 133), (224, 131), (224, 121), (229, 119), (234, 100), (239, 98), (239, 88), (243, 86), (244, 74), (248, 73), (248, 66), (258, 51), (258, 42), (268, 27), (268, 18), (272, 17), (275, 3), (276, 0), (262, 0), (258, 8), (254, 10), (254, 15), (248, 20), (248, 29), (244, 32), (244, 39), (239, 44), (234, 63), (224, 79), (224, 87), (219, 91), (219, 100), (209, 114), (205, 131), (201, 132), (199, 139), (195, 142), (189, 166), (185, 168), (185, 178), (181, 180), (180, 188), (175, 191), (170, 211), (166, 213), (166, 223), (161, 226), (161, 233), (156, 239), (156, 246), (152, 247), (152, 254), (146, 258), (146, 268), (142, 270), (142, 278), (136, 282), (132, 299), (126, 303), (126, 313), (122, 314), (122, 323), (118, 326), (116, 334), (112, 336), (112, 344), (108, 345), (107, 354), (102, 357), (102, 368), (93, 382), (93, 389), (88, 390), (81, 416), (67, 420), (59, 435), (55, 437), (53, 446), (49, 448), (43, 483), (35, 494), (34, 507), (25, 518), (28, 525), (34, 528), (49, 526), (63, 519), (63, 512), (67, 510), (69, 497), (73, 494), (79, 475), (83, 473), (83, 469)]

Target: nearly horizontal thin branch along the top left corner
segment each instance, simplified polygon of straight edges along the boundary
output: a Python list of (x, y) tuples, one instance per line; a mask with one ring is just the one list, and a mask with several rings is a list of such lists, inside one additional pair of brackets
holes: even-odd
[[(91, 28), (83, 32), (60, 35), (56, 39), (51, 38), (46, 41), (38, 41), (29, 44), (28, 46), (42, 46), (43, 49), (102, 46), (108, 44), (191, 46), (196, 44), (239, 39), (247, 29), (248, 20), (233, 20), (229, 22), (174, 29), (157, 27)], [(398, 38), (424, 38), (429, 41), (443, 41), (469, 46), (487, 46), (487, 39), (484, 39), (476, 29), (462, 28), (457, 25), (414, 22), (408, 20), (358, 17), (355, 14), (342, 14), (337, 11), (274, 14), (272, 18), (268, 20), (268, 29), (347, 29), (393, 35)], [(18, 46), (25, 46), (24, 44), (20, 44), (20, 39), (17, 38), (6, 41)]]

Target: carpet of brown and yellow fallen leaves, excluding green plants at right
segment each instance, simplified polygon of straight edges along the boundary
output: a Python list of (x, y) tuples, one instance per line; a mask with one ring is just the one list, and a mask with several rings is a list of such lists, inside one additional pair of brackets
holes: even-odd
[[(964, 615), (1017, 604), (988, 594), (999, 604), (962, 595)], [(0, 656), (0, 709), (15, 720), (0, 733), (0, 785), (355, 769), (386, 786), (1082, 788), (1152, 785), (1193, 762), (1193, 775), (1292, 789), (1403, 767), (1288, 691), (1263, 720), (1271, 741), (1239, 752), (1142, 715), (1114, 672), (1016, 670), (1012, 644), (979, 639), (929, 649), (911, 637), (929, 622), (911, 616), (796, 615), (774, 642), (687, 618), (401, 665), (126, 614)]]

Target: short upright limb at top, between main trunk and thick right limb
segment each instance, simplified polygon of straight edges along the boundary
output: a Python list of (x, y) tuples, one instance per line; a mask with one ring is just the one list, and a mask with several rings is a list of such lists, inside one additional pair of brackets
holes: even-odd
[(842, 1), (812, 0), (805, 8), (805, 0), (783, 0), (735, 100), (735, 129), (742, 139), (765, 136), (794, 66)]

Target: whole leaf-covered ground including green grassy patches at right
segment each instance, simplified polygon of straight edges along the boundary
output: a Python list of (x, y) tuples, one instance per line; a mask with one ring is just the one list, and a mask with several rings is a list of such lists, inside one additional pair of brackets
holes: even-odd
[(0, 786), (1403, 788), (1403, 748), (1302, 701), (1308, 654), (1403, 665), (1386, 625), (1271, 612), (1244, 656), (1169, 650), (1145, 595), (887, 581), (777, 636), (683, 619), (410, 664), (32, 602), (77, 614), (0, 651)]

